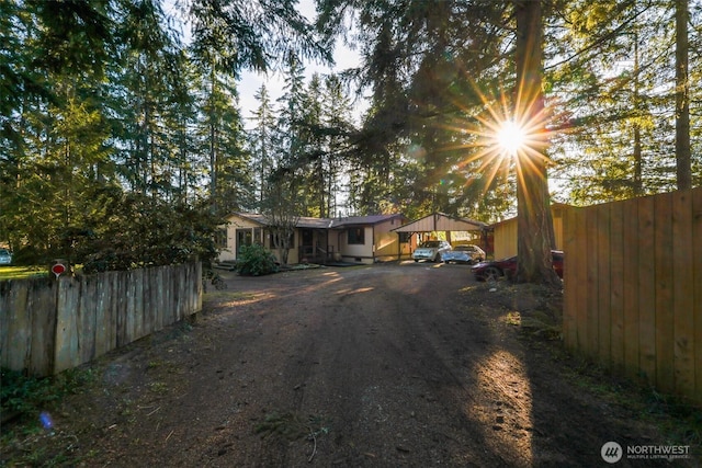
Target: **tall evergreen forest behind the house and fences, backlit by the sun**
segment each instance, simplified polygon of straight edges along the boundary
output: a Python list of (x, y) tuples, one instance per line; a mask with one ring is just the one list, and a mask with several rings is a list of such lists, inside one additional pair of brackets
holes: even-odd
[[(293, 0), (165, 7), (0, 0), (0, 243), (18, 263), (211, 260), (228, 214), (272, 203), (321, 217), (516, 213), (516, 161), (494, 148), (512, 118), (514, 2), (317, 0), (313, 20)], [(702, 3), (542, 7), (552, 198), (700, 185)], [(358, 67), (306, 76), (336, 43)], [(247, 70), (283, 77), (251, 115)]]

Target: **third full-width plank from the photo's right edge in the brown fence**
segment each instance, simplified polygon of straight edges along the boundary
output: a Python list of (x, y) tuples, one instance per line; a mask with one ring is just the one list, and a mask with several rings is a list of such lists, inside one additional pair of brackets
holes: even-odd
[[(656, 267), (654, 197), (638, 199), (638, 365), (642, 377), (655, 385), (656, 375)], [(634, 273), (636, 274), (636, 273)]]

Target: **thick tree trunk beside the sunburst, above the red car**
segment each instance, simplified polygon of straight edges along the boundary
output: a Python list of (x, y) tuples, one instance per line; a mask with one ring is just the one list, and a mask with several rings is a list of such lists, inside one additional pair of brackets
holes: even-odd
[(518, 0), (517, 9), (517, 119), (529, 123), (528, 147), (517, 159), (517, 213), (520, 283), (559, 284), (553, 270), (555, 247), (545, 156), (548, 145), (542, 91), (542, 5), (540, 0)]

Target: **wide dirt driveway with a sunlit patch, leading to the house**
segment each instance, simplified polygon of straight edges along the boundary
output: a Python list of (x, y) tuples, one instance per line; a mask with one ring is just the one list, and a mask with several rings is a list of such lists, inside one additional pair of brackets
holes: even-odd
[(520, 340), (506, 286), (465, 266), (226, 282), (197, 322), (107, 356), (103, 388), (55, 415), (84, 466), (596, 467), (608, 441), (657, 443)]

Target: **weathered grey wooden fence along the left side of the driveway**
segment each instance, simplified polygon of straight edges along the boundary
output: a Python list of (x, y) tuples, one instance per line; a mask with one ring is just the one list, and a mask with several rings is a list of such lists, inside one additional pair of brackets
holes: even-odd
[(200, 262), (0, 282), (0, 365), (46, 376), (202, 309)]

